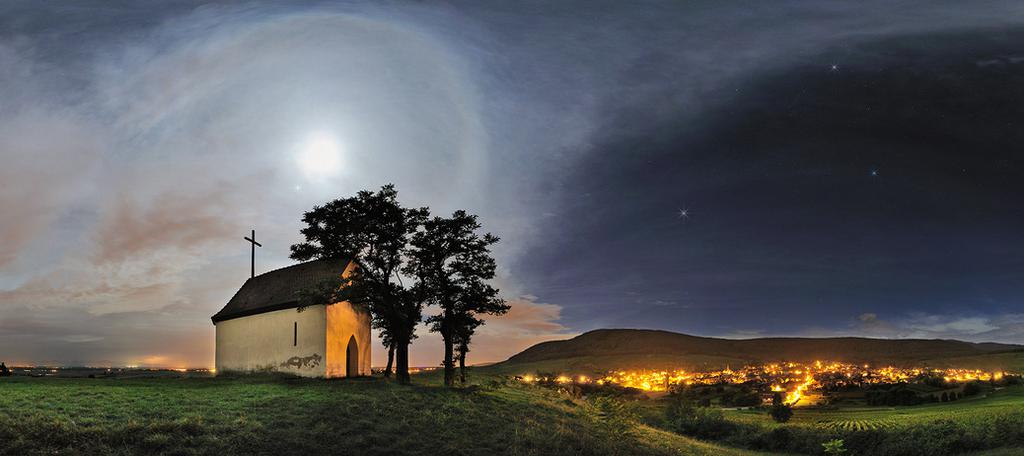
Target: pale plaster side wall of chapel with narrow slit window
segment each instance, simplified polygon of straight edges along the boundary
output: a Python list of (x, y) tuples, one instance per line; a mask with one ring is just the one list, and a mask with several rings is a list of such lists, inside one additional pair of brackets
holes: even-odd
[[(298, 323), (298, 344), (293, 326)], [(327, 372), (327, 310), (310, 305), (268, 312), (216, 324), (218, 372), (272, 371), (305, 377)], [(368, 357), (369, 358), (369, 357)]]

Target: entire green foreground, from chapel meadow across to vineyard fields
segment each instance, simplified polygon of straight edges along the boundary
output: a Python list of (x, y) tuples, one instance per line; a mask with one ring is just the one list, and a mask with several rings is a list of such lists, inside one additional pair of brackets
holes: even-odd
[(1024, 386), (909, 407), (709, 409), (602, 401), (478, 375), (445, 389), (381, 378), (0, 379), (0, 454), (847, 455), (1024, 454)]

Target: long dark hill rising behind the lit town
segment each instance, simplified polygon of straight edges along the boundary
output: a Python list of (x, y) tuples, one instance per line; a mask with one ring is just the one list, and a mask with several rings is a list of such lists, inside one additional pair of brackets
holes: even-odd
[(636, 368), (695, 370), (783, 360), (920, 365), (979, 357), (987, 357), (992, 365), (1006, 363), (1008, 367), (1004, 369), (1009, 369), (1024, 360), (1024, 346), (860, 337), (720, 339), (668, 331), (605, 329), (568, 340), (539, 343), (490, 369), (509, 373), (535, 370), (588, 373)]

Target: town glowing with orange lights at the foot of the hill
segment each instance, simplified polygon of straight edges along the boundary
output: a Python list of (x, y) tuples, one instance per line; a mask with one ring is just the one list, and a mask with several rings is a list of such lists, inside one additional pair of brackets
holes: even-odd
[(974, 380), (998, 381), (1006, 372), (977, 369), (872, 367), (836, 362), (813, 364), (773, 363), (744, 366), (737, 370), (691, 372), (685, 370), (613, 371), (599, 377), (558, 375), (548, 378), (538, 375), (518, 377), (526, 383), (554, 382), (559, 384), (616, 385), (648, 392), (669, 391), (679, 385), (755, 384), (772, 392), (783, 393), (784, 402), (797, 405), (812, 391), (838, 390), (877, 384), (914, 383), (941, 379), (948, 384)]

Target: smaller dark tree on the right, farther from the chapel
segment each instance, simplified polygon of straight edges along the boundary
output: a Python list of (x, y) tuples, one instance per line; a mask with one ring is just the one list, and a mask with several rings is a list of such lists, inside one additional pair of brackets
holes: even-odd
[(480, 236), (476, 233), (479, 229), (476, 215), (460, 210), (449, 218), (425, 220), (423, 230), (416, 232), (410, 242), (404, 272), (417, 278), (414, 293), (441, 309), (427, 323), (444, 342), (445, 386), (455, 381), (457, 345), (460, 365), (464, 366), (473, 330), (483, 323), (476, 316), (501, 315), (509, 309), (498, 297), (498, 289), (486, 283), (495, 277), (490, 246), (498, 243), (498, 238), (489, 233)]

